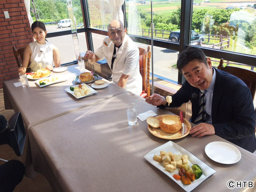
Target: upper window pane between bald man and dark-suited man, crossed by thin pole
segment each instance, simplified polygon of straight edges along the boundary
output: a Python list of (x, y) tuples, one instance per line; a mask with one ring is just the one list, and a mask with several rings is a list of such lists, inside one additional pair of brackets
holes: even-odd
[[(128, 34), (151, 37), (151, 5), (146, 1), (125, 1)], [(168, 40), (171, 31), (180, 30), (181, 2), (153, 3), (154, 38)], [(171, 39), (170, 39), (171, 40)], [(175, 40), (173, 38), (172, 40)], [(179, 38), (178, 40), (179, 41)]]

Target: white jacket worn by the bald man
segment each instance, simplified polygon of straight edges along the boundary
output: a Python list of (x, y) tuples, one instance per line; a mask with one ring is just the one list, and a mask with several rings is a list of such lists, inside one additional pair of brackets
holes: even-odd
[[(106, 41), (108, 46), (103, 46), (96, 50), (94, 53), (100, 59), (106, 58), (108, 66), (111, 69), (114, 43), (108, 36), (104, 39), (104, 41)], [(104, 41), (102, 45), (104, 45)], [(125, 35), (122, 45), (116, 52), (116, 59), (114, 60), (111, 76), (113, 82), (118, 84), (122, 74), (129, 75), (125, 89), (137, 95), (140, 95), (142, 92), (142, 77), (140, 75), (139, 54), (140, 51), (137, 45), (128, 35)]]

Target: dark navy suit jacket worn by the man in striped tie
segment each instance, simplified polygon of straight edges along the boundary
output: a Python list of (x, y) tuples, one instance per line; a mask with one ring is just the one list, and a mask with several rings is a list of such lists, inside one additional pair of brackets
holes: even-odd
[[(236, 76), (218, 69), (215, 72), (216, 82), (212, 96), (212, 125), (215, 134), (254, 152), (256, 117), (250, 89)], [(180, 90), (172, 96), (170, 108), (179, 107), (190, 100), (191, 122), (194, 122), (199, 110), (199, 92), (198, 88), (184, 82)], [(166, 108), (168, 104), (159, 107)]]

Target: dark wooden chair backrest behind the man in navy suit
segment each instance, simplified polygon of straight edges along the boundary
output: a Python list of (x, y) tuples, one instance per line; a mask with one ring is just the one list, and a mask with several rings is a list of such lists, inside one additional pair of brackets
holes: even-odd
[(235, 66), (223, 67), (223, 59), (220, 60), (218, 69), (226, 71), (240, 78), (248, 86), (252, 94), (252, 99), (254, 99), (255, 91), (256, 91), (256, 72), (255, 71), (240, 68), (240, 67), (235, 67)]

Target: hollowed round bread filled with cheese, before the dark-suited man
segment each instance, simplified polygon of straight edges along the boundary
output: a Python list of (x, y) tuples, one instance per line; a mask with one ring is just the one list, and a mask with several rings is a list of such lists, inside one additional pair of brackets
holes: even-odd
[(168, 115), (160, 121), (160, 129), (167, 133), (176, 133), (182, 127), (182, 123), (177, 116)]

